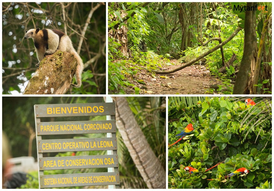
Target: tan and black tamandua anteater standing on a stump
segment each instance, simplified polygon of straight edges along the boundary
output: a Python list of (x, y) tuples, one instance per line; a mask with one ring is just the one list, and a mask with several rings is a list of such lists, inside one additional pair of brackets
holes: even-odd
[(26, 30), (26, 35), (24, 38), (33, 39), (34, 47), (39, 61), (39, 63), (36, 64), (37, 67), (46, 55), (53, 54), (56, 50), (67, 51), (71, 54), (74, 54), (75, 58), (77, 59), (77, 69), (75, 73), (77, 85), (71, 85), (74, 87), (81, 87), (81, 74), (83, 72), (84, 64), (81, 57), (73, 48), (72, 42), (68, 35), (56, 29), (40, 30), (40, 28), (37, 28)]

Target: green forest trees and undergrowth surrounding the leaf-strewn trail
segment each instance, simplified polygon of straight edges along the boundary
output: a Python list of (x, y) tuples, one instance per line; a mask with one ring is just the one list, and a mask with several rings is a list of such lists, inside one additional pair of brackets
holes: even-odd
[[(139, 94), (144, 82), (135, 80), (134, 77), (144, 74), (144, 70), (165, 70), (169, 65), (173, 65), (170, 60), (183, 58), (179, 63), (181, 65), (186, 58), (198, 57), (216, 47), (237, 27), (243, 27), (245, 11), (235, 11), (234, 5), (244, 6), (246, 3), (108, 3), (109, 92), (124, 94), (129, 92), (130, 88), (134, 90), (130, 93)], [(257, 47), (246, 48), (256, 49), (255, 55), (261, 60), (254, 57), (255, 62), (259, 60), (259, 67), (254, 72), (255, 65), (251, 66), (245, 94), (249, 93), (248, 89), (254, 87), (253, 94), (271, 94), (272, 91), (272, 3), (258, 3), (258, 6), (267, 6), (268, 11), (257, 10), (255, 31), (259, 41)], [(268, 21), (269, 24), (266, 24)], [(233, 92), (233, 82), (243, 57), (243, 40), (244, 31), (241, 30), (224, 47), (205, 57), (205, 66), (210, 70), (210, 74), (223, 82), (218, 87), (219, 93)], [(145, 50), (140, 43), (146, 44)], [(261, 51), (258, 52), (258, 48)], [(236, 59), (229, 63), (234, 54)], [(222, 67), (224, 71), (220, 72)], [(257, 81), (250, 84), (253, 76), (257, 74)], [(147, 75), (155, 78), (154, 73)], [(213, 93), (214, 89), (207, 91)]]

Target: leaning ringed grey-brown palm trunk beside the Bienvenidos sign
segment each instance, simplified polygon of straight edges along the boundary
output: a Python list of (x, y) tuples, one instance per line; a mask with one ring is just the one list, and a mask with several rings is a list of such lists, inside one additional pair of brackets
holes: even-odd
[(135, 121), (125, 97), (116, 100), (116, 125), (137, 169), (149, 189), (166, 188), (166, 172)]

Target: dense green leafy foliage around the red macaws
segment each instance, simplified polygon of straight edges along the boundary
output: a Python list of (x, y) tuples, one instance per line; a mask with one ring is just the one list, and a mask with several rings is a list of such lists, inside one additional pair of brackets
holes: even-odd
[[(168, 188), (272, 188), (272, 100), (256, 97), (251, 106), (245, 99), (169, 97), (168, 143), (188, 123), (194, 131), (168, 148)], [(198, 172), (184, 171), (187, 166)], [(241, 167), (249, 173), (224, 177)]]

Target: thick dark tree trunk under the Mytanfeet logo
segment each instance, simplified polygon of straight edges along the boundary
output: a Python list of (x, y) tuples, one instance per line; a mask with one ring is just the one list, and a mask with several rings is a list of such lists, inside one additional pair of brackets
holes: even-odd
[[(248, 2), (247, 6), (255, 6), (255, 2)], [(233, 94), (244, 94), (248, 82), (248, 72), (250, 64), (254, 59), (254, 50), (257, 46), (257, 38), (254, 29), (256, 23), (256, 11), (246, 11), (244, 22), (244, 45), (243, 45), (243, 58), (241, 61), (239, 73), (233, 89)]]

